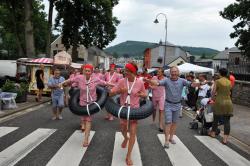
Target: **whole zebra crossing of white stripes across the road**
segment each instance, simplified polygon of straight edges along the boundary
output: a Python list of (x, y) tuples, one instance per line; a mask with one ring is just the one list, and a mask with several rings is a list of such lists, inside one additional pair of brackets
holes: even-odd
[[(18, 130), (18, 127), (0, 127), (0, 138), (8, 135), (11, 132)], [(13, 145), (10, 145), (6, 149), (0, 152), (0, 165), (1, 166), (12, 166), (22, 160), (25, 156), (38, 147), (43, 141), (48, 139), (52, 134), (54, 134), (57, 129), (46, 129), (38, 128), (31, 132), (24, 138), (18, 140)], [(95, 146), (91, 143), (96, 132), (91, 131), (90, 133), (90, 146)], [(156, 136), (159, 142), (164, 144), (164, 135), (158, 134)], [(115, 142), (113, 148), (112, 162), (111, 166), (122, 166), (125, 165), (125, 156), (127, 149), (121, 148), (121, 143), (123, 141), (122, 134), (120, 132), (115, 133)], [(174, 136), (176, 145), (170, 145), (169, 149), (165, 149), (166, 155), (169, 157), (172, 165), (182, 166), (182, 165), (192, 165), (200, 166), (202, 165), (195, 155), (185, 146), (185, 144), (177, 136)], [(210, 149), (218, 158), (224, 161), (227, 165), (237, 165), (237, 166), (249, 166), (250, 161), (238, 154), (236, 151), (228, 146), (222, 145), (218, 140), (212, 139), (207, 136), (194, 136), (201, 142), (204, 147)], [(74, 131), (70, 137), (64, 142), (61, 148), (51, 156), (51, 159), (46, 164), (47, 166), (77, 166), (80, 164), (81, 160), (84, 158), (85, 152), (89, 147), (82, 147), (83, 134), (80, 130)], [(1, 140), (0, 140), (1, 141)], [(0, 142), (1, 143), (1, 142)], [(135, 166), (143, 165), (141, 158), (140, 146), (136, 140), (132, 159)], [(163, 148), (160, 146), (159, 148)], [(148, 152), (150, 153), (150, 152)], [(73, 155), (72, 155), (73, 154)], [(159, 161), (160, 162), (160, 161)]]

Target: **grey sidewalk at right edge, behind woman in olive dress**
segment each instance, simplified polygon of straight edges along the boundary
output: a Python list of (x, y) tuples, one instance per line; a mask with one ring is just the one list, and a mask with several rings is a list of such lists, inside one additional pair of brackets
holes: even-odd
[[(234, 104), (234, 116), (230, 119), (230, 135), (250, 147), (250, 108)], [(185, 110), (189, 116), (193, 111)], [(223, 129), (223, 128), (222, 128)]]

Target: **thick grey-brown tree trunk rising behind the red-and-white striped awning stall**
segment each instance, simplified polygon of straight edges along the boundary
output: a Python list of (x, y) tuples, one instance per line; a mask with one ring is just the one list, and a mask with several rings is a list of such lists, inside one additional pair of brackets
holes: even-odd
[(24, 0), (24, 13), (25, 13), (25, 43), (26, 43), (26, 55), (29, 58), (35, 56), (35, 45), (34, 45), (34, 32), (32, 23), (32, 0)]

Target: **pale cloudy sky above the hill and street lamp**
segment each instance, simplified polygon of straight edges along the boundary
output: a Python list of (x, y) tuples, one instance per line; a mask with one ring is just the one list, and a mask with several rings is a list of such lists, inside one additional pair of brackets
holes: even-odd
[[(48, 0), (43, 1), (48, 11)], [(159, 15), (159, 23), (153, 23), (158, 13), (164, 13), (170, 43), (217, 50), (234, 47), (236, 39), (229, 37), (234, 23), (219, 15), (219, 11), (233, 2), (235, 0), (120, 0), (113, 15), (121, 23), (116, 39), (109, 46), (127, 40), (165, 41), (165, 17)]]

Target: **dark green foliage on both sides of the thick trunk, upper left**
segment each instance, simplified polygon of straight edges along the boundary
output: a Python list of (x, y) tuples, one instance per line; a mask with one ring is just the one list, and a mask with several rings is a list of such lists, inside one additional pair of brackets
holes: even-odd
[[(41, 0), (33, 0), (33, 30), (36, 53), (44, 53), (46, 47), (47, 21)], [(17, 59), (25, 56), (24, 0), (8, 0), (0, 3), (0, 43), (1, 50), (7, 55), (1, 59)], [(22, 52), (22, 54), (20, 54)]]

